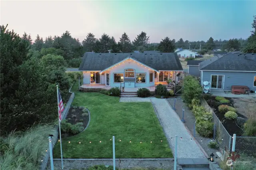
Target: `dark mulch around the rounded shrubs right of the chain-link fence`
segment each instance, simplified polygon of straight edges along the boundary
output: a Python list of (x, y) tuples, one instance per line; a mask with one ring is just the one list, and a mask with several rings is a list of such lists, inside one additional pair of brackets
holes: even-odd
[[(212, 96), (210, 99), (215, 100), (215, 96)], [(230, 101), (230, 103), (226, 103), (223, 105), (228, 105), (228, 106), (231, 106), (231, 107), (234, 107), (234, 102), (232, 100), (232, 98), (229, 98), (229, 97), (225, 97), (225, 99), (228, 99)], [(242, 121), (241, 122), (238, 122), (237, 120), (246, 120), (247, 118), (240, 114), (240, 113), (236, 113), (238, 115), (238, 119), (234, 120), (234, 119), (226, 119), (224, 117), (225, 113), (220, 113), (219, 110), (218, 110), (218, 107), (216, 106), (211, 106), (214, 110), (214, 113), (215, 115), (218, 117), (218, 119), (222, 122), (222, 125), (226, 128), (226, 130), (228, 131), (228, 133), (233, 136), (233, 134), (236, 134), (236, 136), (242, 136), (242, 125), (244, 124), (245, 121)], [(238, 127), (239, 126), (239, 127)]]

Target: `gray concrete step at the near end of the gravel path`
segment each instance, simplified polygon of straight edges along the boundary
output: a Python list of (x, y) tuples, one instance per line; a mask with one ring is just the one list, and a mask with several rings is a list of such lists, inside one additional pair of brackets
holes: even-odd
[(209, 161), (207, 158), (178, 158), (178, 164), (183, 167), (202, 167), (209, 168)]

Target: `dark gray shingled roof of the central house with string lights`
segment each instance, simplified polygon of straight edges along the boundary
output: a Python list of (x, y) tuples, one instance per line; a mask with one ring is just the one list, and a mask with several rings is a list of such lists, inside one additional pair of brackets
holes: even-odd
[(156, 70), (183, 70), (177, 53), (85, 53), (79, 71), (102, 71), (127, 57)]

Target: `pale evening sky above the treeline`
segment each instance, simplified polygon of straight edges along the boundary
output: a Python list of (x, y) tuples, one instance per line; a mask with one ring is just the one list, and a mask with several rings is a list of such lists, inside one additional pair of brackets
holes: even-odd
[(252, 30), (256, 1), (1, 1), (0, 23), (9, 30), (61, 36), (68, 30), (80, 42), (91, 32), (103, 33), (119, 41), (126, 32), (131, 40), (141, 31), (150, 42), (164, 37), (189, 41), (248, 38)]

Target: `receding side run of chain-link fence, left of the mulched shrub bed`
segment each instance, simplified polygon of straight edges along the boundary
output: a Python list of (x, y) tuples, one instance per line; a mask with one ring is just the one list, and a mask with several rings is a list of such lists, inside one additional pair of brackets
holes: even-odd
[(230, 152), (232, 148), (232, 136), (227, 132), (226, 128), (222, 125), (218, 117), (215, 115), (212, 108), (206, 103), (203, 99), (201, 101), (202, 106), (206, 109), (207, 112), (212, 113), (214, 126), (215, 126), (215, 136), (214, 139), (220, 145), (220, 148), (224, 149), (226, 152)]

